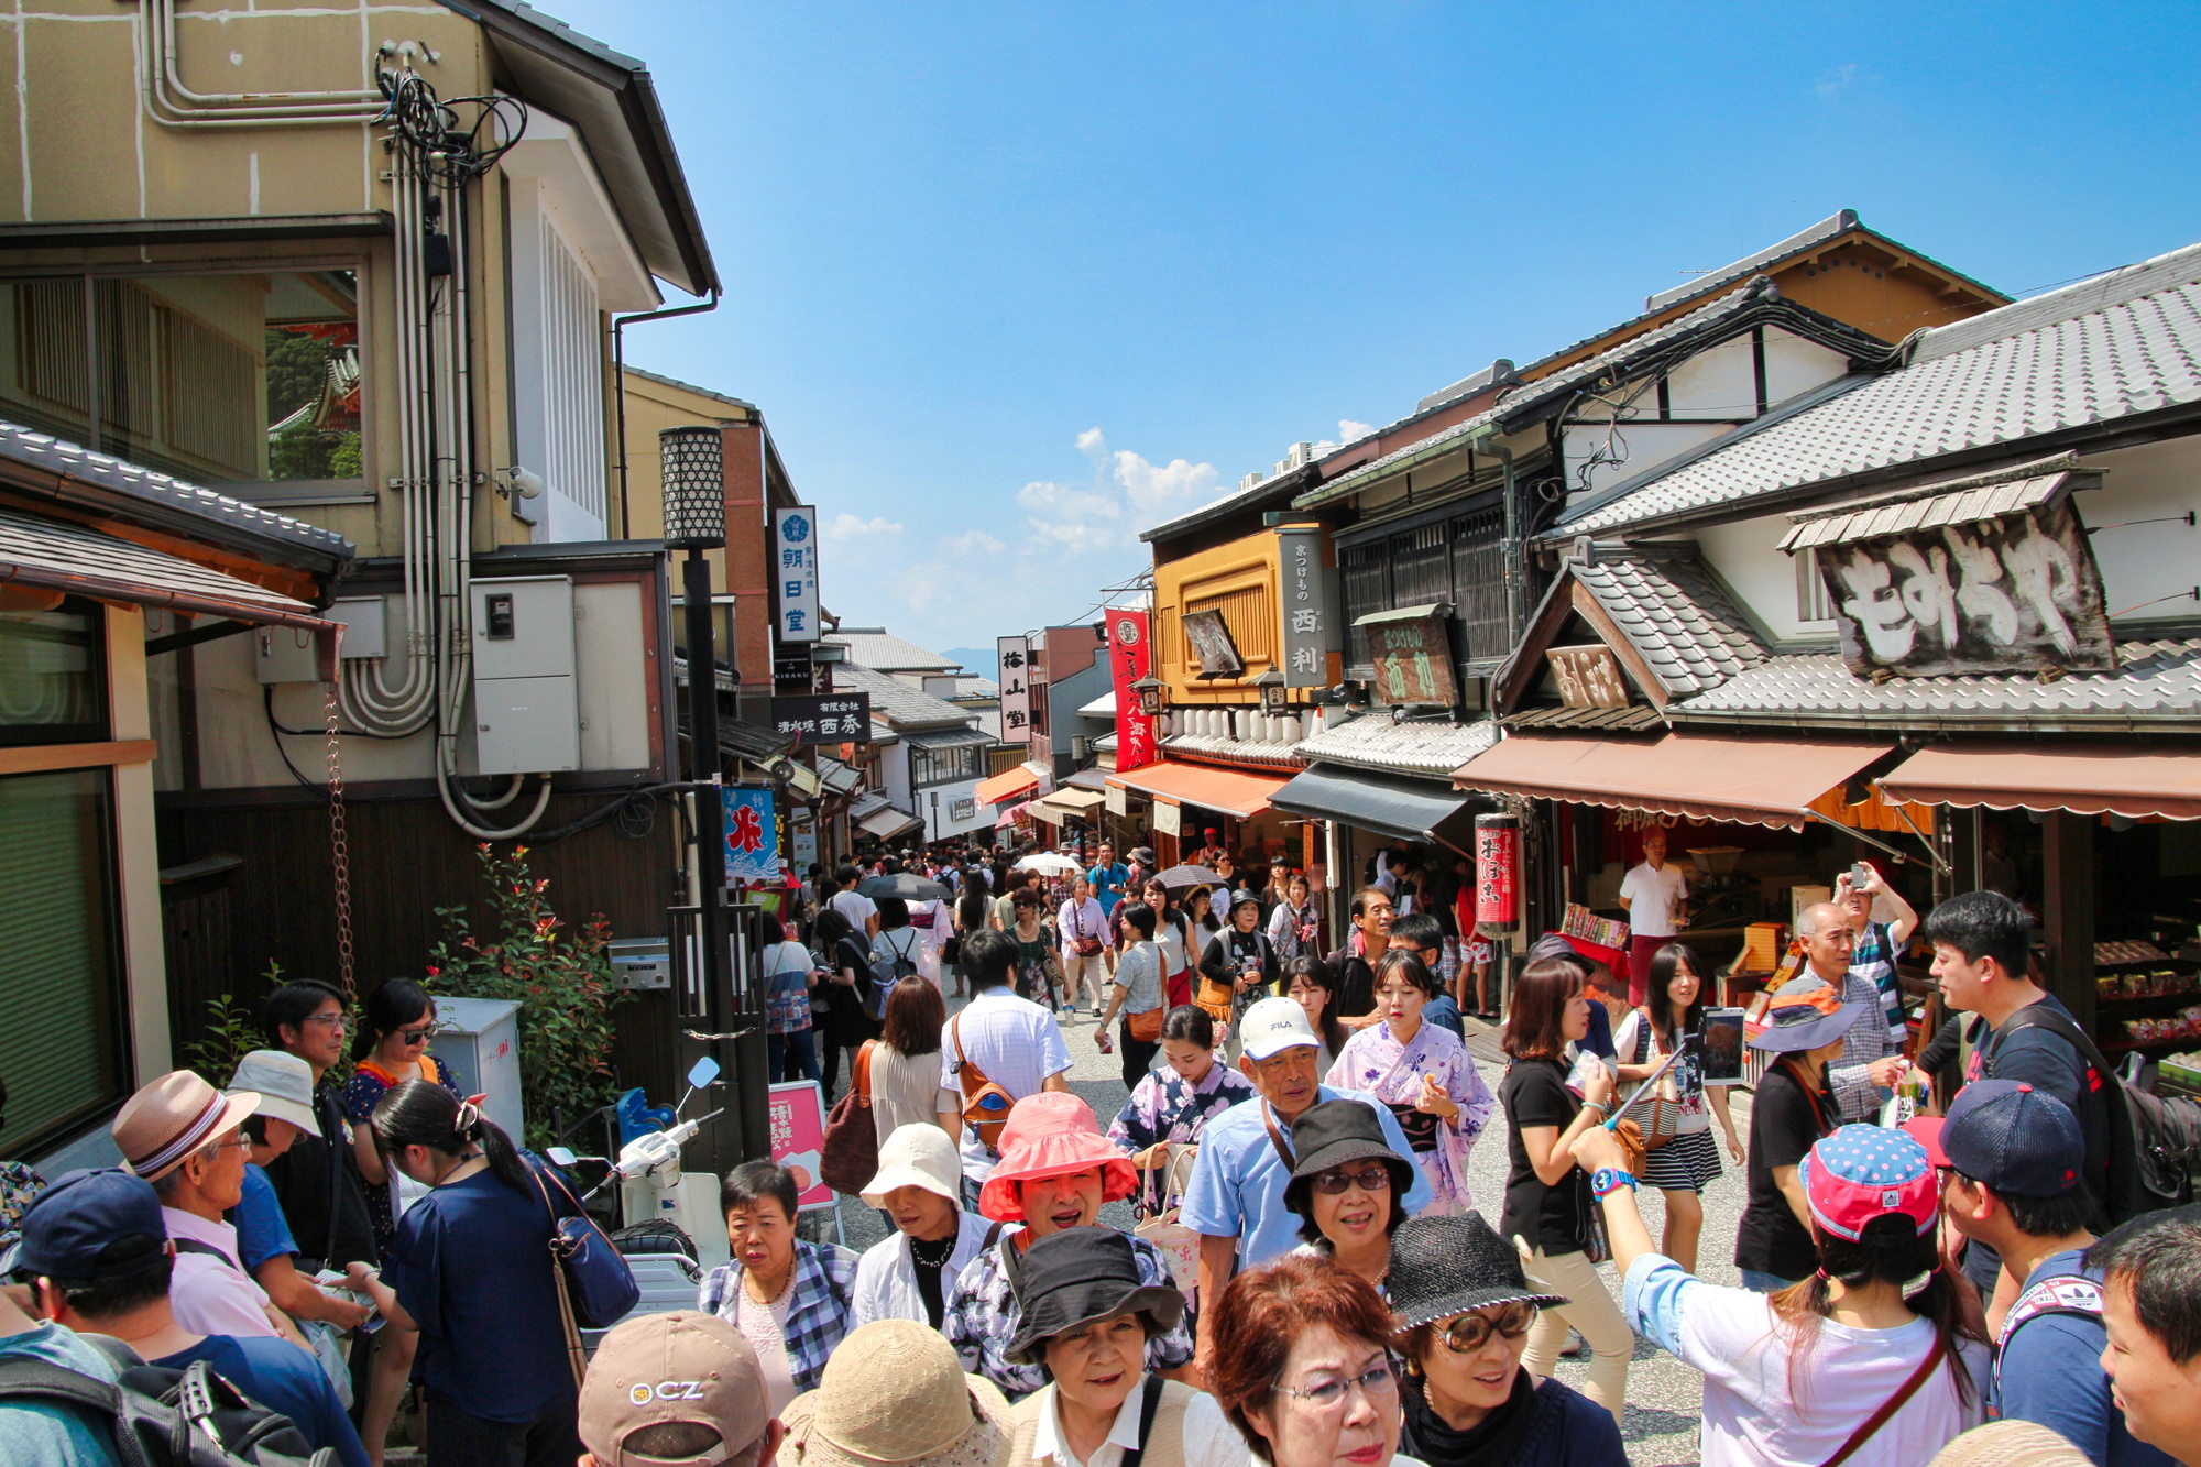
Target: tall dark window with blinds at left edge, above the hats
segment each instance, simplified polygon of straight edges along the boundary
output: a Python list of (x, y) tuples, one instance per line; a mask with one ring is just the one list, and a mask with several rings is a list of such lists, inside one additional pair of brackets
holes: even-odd
[(123, 1097), (112, 795), (106, 769), (0, 778), (0, 1152)]

